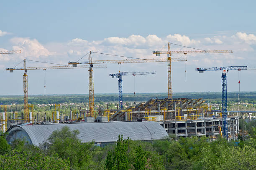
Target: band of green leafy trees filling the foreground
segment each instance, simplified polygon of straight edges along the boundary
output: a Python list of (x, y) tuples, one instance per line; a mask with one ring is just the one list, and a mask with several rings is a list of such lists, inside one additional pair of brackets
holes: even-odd
[(1, 170), (255, 170), (256, 128), (248, 125), (247, 140), (168, 137), (133, 141), (119, 135), (115, 144), (81, 143), (78, 130), (54, 131), (39, 147), (0, 135)]

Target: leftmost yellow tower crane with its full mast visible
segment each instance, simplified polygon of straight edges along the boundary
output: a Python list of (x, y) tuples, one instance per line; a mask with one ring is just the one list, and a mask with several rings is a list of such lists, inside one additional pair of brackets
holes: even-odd
[[(23, 60), (23, 67), (8, 67), (5, 70), (9, 70), (10, 72), (13, 72), (13, 70), (24, 70), (23, 75), (23, 103), (24, 103), (24, 119), (25, 122), (29, 120), (29, 114), (28, 114), (28, 70), (55, 70), (55, 69), (74, 69), (74, 68), (88, 68), (88, 66), (80, 66), (80, 67), (72, 67), (69, 65), (61, 65), (61, 66), (49, 66), (49, 67), (27, 67), (26, 61), (33, 61), (33, 60)], [(39, 62), (39, 61), (33, 61), (33, 62)], [(47, 63), (47, 62), (43, 62)], [(53, 64), (53, 63), (50, 63)], [(17, 66), (17, 65), (16, 65)], [(106, 65), (96, 65), (95, 67), (106, 67)]]

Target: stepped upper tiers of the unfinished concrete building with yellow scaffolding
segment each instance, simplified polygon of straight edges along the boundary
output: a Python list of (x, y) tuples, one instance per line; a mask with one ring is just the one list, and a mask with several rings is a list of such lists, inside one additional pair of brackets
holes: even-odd
[[(139, 103), (133, 108), (129, 107), (126, 110), (115, 112), (115, 114), (111, 115), (110, 120), (134, 121), (141, 118), (148, 119), (146, 117), (156, 117), (156, 121), (197, 120), (211, 111), (211, 107), (204, 105), (204, 102), (202, 98), (150, 99), (147, 102)], [(152, 119), (150, 118), (150, 120)]]

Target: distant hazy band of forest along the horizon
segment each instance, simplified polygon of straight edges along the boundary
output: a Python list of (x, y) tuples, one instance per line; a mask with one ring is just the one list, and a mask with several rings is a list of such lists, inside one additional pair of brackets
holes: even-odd
[[(168, 97), (167, 93), (137, 93), (136, 101), (147, 101), (151, 98), (163, 99)], [(172, 94), (172, 98), (203, 98), (211, 100), (212, 103), (221, 103), (221, 92), (177, 92)], [(256, 103), (256, 92), (240, 92), (241, 102)], [(51, 104), (51, 103), (87, 103), (89, 96), (85, 95), (29, 95), (28, 102), (31, 104)], [(95, 94), (95, 102), (117, 102), (118, 94)], [(133, 93), (123, 94), (124, 102), (133, 102)], [(238, 102), (238, 92), (228, 92), (228, 102)], [(0, 96), (1, 105), (23, 104), (23, 95)]]

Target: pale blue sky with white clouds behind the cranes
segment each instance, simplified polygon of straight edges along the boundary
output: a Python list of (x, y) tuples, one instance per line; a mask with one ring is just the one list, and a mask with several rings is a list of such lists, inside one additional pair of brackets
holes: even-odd
[[(220, 92), (221, 72), (198, 74), (197, 67), (248, 66), (256, 68), (256, 1), (245, 0), (44, 0), (3, 1), (0, 10), (0, 95), (23, 95), (23, 71), (10, 73), (22, 60), (67, 65), (88, 51), (136, 58), (156, 57), (175, 43), (202, 50), (233, 50), (226, 54), (187, 54), (187, 62), (172, 62), (172, 92)], [(194, 50), (171, 45), (171, 50)], [(88, 61), (88, 55), (80, 61)], [(173, 58), (184, 57), (172, 54)], [(92, 54), (92, 60), (124, 57)], [(27, 67), (53, 66), (27, 61)], [(22, 62), (17, 67), (23, 67)], [(94, 93), (118, 93), (118, 79), (110, 73), (151, 72), (123, 76), (123, 92), (168, 92), (167, 63), (108, 64), (94, 68)], [(185, 70), (187, 74), (185, 74)], [(88, 94), (88, 68), (28, 70), (28, 94)], [(232, 70), (228, 91), (256, 91), (256, 70)]]

